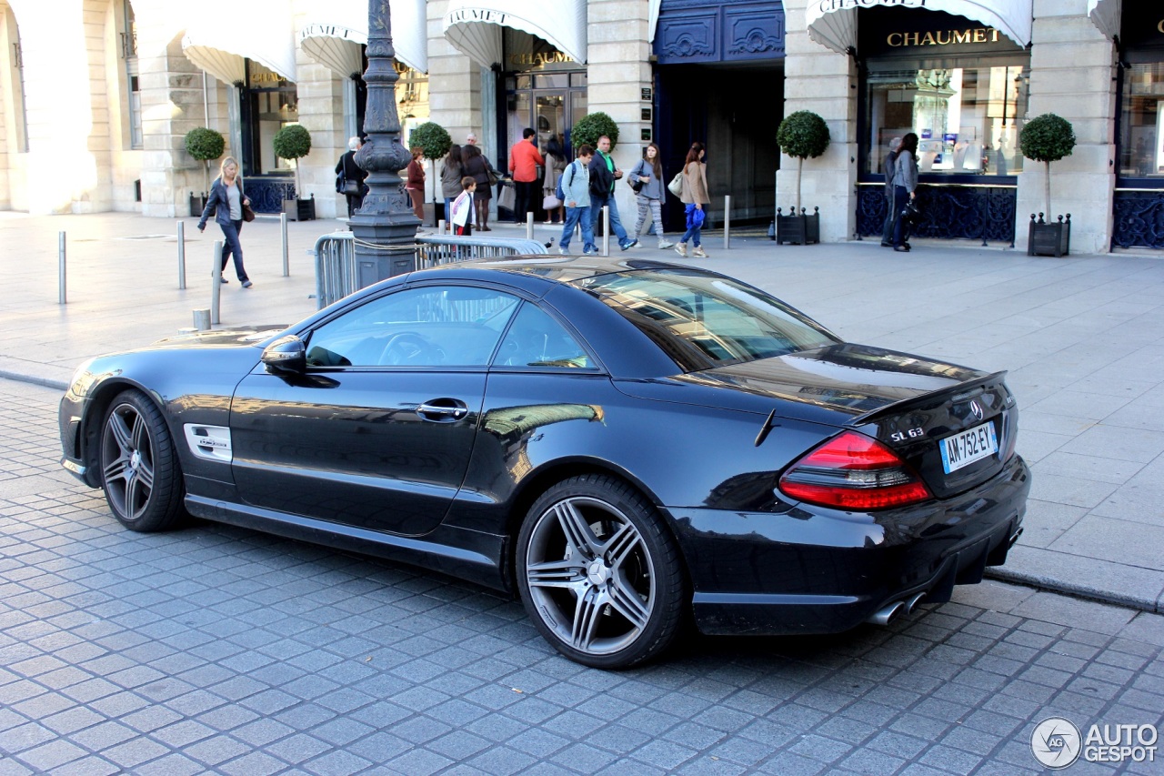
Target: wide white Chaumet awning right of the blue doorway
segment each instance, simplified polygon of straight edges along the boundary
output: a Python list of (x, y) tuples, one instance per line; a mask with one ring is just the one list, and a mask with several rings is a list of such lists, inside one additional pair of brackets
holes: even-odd
[(854, 50), (857, 12), (876, 6), (942, 10), (988, 24), (1021, 47), (1030, 43), (1031, 0), (809, 0), (808, 35), (840, 54)]

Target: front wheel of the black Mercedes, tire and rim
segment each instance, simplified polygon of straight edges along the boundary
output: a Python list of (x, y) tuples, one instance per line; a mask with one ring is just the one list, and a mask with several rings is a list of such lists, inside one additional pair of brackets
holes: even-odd
[(101, 489), (132, 531), (173, 528), (185, 515), (182, 467), (161, 410), (140, 390), (113, 400), (101, 426)]

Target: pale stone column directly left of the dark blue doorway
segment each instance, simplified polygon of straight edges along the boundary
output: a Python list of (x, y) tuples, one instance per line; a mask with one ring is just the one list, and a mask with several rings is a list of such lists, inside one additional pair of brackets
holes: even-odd
[[(652, 121), (643, 119), (643, 108), (652, 106), (643, 99), (643, 90), (653, 86), (647, 13), (646, 2), (590, 0), (588, 3), (588, 113), (601, 111), (618, 124), (618, 144), (612, 155), (624, 172), (643, 158), (643, 147), (650, 142), (643, 140), (643, 132), (652, 129)], [(615, 185), (615, 202), (623, 226), (634, 237), (634, 192), (622, 181)], [(613, 235), (611, 245), (617, 245)]]

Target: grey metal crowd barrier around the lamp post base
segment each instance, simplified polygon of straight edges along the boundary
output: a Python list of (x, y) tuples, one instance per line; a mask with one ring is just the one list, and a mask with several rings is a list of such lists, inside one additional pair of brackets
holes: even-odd
[[(546, 245), (525, 238), (425, 234), (417, 238), (413, 266), (428, 269), (470, 259), (545, 254)], [(360, 290), (352, 232), (333, 232), (315, 240), (315, 302), (318, 309)]]

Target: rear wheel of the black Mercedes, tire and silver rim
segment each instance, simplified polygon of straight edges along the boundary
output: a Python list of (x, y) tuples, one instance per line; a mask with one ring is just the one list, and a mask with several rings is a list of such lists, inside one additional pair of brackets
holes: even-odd
[(641, 493), (606, 475), (570, 478), (534, 502), (518, 534), (517, 578), (546, 641), (601, 669), (665, 650), (687, 599), (661, 516)]

